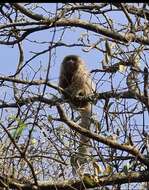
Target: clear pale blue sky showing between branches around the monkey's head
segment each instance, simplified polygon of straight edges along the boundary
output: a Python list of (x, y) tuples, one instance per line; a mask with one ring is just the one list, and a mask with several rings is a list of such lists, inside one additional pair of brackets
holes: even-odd
[[(51, 10), (51, 12), (55, 11), (56, 4), (52, 3), (45, 3), (44, 4), (45, 8), (48, 8)], [(59, 4), (60, 6), (60, 4)], [(42, 9), (38, 9), (38, 13), (43, 14)], [(45, 14), (45, 12), (44, 12)], [(45, 15), (45, 16), (48, 16)], [(118, 25), (122, 25), (125, 23), (125, 19), (122, 14), (119, 14), (118, 12), (112, 12), (112, 14), (109, 15), (111, 19), (114, 20), (114, 22), (118, 23)], [(84, 19), (87, 19), (88, 15), (84, 15)], [(101, 21), (101, 18), (98, 18)], [(119, 26), (118, 26), (119, 27)], [(53, 29), (52, 29), (53, 30)], [(74, 28), (72, 27), (70, 30), (67, 30), (64, 33), (63, 41), (66, 43), (76, 43), (77, 40), (80, 38), (81, 35), (84, 35), (86, 33), (85, 30), (82, 30), (80, 28)], [(56, 35), (54, 38), (54, 41), (57, 42), (60, 39), (60, 34), (61, 31)], [(99, 40), (99, 36), (93, 36), (94, 33), (89, 32), (92, 43), (97, 42)], [(48, 43), (50, 42), (53, 36), (53, 32), (50, 32), (50, 30), (45, 30), (45, 31), (40, 31), (40, 32), (35, 32), (31, 35), (29, 35), (26, 40), (23, 41), (22, 45), (24, 47), (24, 54), (25, 54), (25, 62), (29, 60), (34, 53), (33, 52), (40, 52), (48, 48)], [(101, 37), (101, 36), (100, 36)], [(102, 36), (105, 38), (104, 36)], [(38, 41), (40, 43), (31, 43), (29, 40), (32, 41)], [(44, 42), (44, 43), (43, 43)], [(101, 44), (101, 49), (105, 49), (104, 44)], [(1, 52), (1, 70), (0, 74), (1, 75), (13, 75), (16, 71), (17, 64), (18, 64), (18, 59), (19, 59), (19, 54), (18, 54), (18, 47), (17, 45), (15, 46), (5, 46), (5, 45), (0, 45), (0, 52)], [(63, 60), (63, 58), (66, 55), (69, 54), (75, 54), (81, 56), (86, 64), (87, 68), (89, 70), (92, 69), (97, 69), (101, 68), (101, 62), (103, 60), (103, 54), (99, 53), (97, 50), (91, 50), (89, 52), (84, 52), (82, 51), (82, 47), (57, 47), (56, 50), (52, 50), (52, 59), (51, 59), (51, 69), (49, 73), (49, 81), (57, 84), (58, 83), (58, 76), (59, 76), (59, 71), (60, 71), (60, 64)], [(35, 58), (33, 61), (29, 63), (30, 67), (25, 67), (24, 70), (24, 77), (27, 77), (29, 79), (32, 79), (34, 72), (37, 72), (39, 68), (41, 68), (42, 72), (39, 72), (39, 74), (36, 74), (35, 79), (39, 79), (41, 77), (42, 79), (45, 79), (46, 75), (46, 69), (48, 65), (48, 60), (49, 60), (49, 53), (43, 54), (37, 58)], [(119, 84), (119, 77), (120, 73), (118, 75), (115, 75), (115, 85)], [(92, 74), (93, 76), (93, 74)], [(101, 77), (101, 74), (97, 74), (95, 77), (95, 80), (98, 80)], [(103, 92), (109, 89), (110, 83), (104, 83), (101, 86), (98, 86), (98, 92)], [(121, 83), (121, 88), (126, 87), (125, 81), (122, 81)], [(3, 92), (0, 92), (0, 94), (3, 96)]]

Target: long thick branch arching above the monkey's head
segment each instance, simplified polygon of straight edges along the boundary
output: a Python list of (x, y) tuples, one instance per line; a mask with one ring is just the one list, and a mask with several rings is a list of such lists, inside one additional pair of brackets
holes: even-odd
[[(13, 45), (13, 44), (16, 44), (16, 43), (22, 41), (29, 34), (31, 34), (33, 32), (46, 30), (46, 29), (49, 29), (52, 27), (66, 27), (66, 26), (84, 28), (86, 30), (89, 30), (89, 31), (92, 31), (92, 32), (95, 32), (98, 34), (102, 34), (106, 37), (112, 38), (115, 41), (121, 41), (124, 43), (129, 42), (127, 40), (125, 33), (118, 33), (116, 31), (112, 31), (110, 29), (104, 28), (104, 27), (100, 26), (99, 24), (91, 24), (90, 22), (87, 22), (87, 21), (81, 20), (81, 19), (61, 18), (61, 19), (57, 20), (55, 17), (52, 19), (43, 20), (42, 24), (44, 24), (44, 26), (38, 26), (35, 28), (26, 29), (26, 31), (22, 34), (22, 36), (20, 36), (20, 38), (18, 40), (9, 41), (9, 42), (8, 41), (7, 42), (0, 41), (0, 44)], [(140, 43), (140, 44), (144, 44), (144, 45), (149, 45), (149, 39), (147, 37), (144, 37), (144, 36), (142, 36), (142, 37), (141, 36), (135, 36), (135, 38), (132, 39), (132, 41)]]

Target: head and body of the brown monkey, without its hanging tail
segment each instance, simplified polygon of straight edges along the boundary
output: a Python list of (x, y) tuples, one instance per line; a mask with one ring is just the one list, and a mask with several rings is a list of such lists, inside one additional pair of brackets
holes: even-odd
[[(59, 86), (70, 95), (86, 96), (95, 90), (85, 62), (77, 55), (66, 56), (61, 64)], [(74, 103), (75, 107), (87, 107), (88, 102)]]

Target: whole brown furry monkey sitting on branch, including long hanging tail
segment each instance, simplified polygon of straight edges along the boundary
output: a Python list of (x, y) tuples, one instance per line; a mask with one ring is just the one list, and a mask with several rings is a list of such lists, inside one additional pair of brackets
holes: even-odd
[[(63, 59), (59, 75), (59, 87), (63, 88), (72, 97), (77, 95), (87, 96), (94, 93), (95, 86), (90, 77), (90, 73), (86, 68), (85, 62), (81, 57), (77, 55), (68, 55)], [(67, 98), (65, 94), (64, 97)], [(89, 130), (91, 125), (90, 118), (92, 116), (92, 104), (88, 101), (74, 101), (70, 102), (70, 104), (80, 113), (80, 126)], [(89, 141), (88, 137), (80, 135), (78, 153), (77, 156), (72, 159), (73, 162), (77, 161), (78, 164), (72, 163), (72, 165), (82, 167), (82, 165), (85, 164), (85, 155), (88, 155)], [(83, 172), (82, 168), (81, 172)]]

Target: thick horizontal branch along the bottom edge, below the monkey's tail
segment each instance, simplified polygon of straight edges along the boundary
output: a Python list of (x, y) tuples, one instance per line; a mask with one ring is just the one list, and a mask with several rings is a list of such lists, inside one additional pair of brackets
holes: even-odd
[[(96, 180), (94, 180), (96, 177)], [(142, 172), (128, 172), (118, 173), (112, 176), (90, 176), (85, 174), (82, 180), (66, 180), (63, 182), (51, 182), (51, 181), (38, 181), (38, 186), (41, 190), (84, 190), (87, 188), (95, 188), (113, 184), (125, 184), (134, 182), (146, 182), (149, 181), (149, 171)], [(20, 180), (21, 181), (21, 180)], [(7, 184), (9, 188), (21, 189), (21, 190), (36, 190), (35, 184), (21, 183), (18, 179), (2, 177), (0, 176), (0, 185), (5, 187)]]

